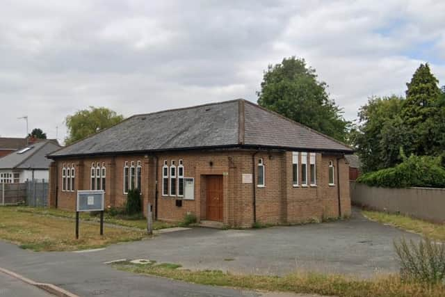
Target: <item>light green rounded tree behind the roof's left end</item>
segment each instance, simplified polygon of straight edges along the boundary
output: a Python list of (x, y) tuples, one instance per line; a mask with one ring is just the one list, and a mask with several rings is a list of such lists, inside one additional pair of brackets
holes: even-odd
[(79, 141), (91, 134), (111, 127), (122, 122), (124, 117), (118, 115), (115, 111), (106, 109), (105, 107), (93, 107), (77, 111), (74, 115), (68, 115), (65, 123), (68, 129), (68, 136), (65, 143), (69, 145), (74, 141)]

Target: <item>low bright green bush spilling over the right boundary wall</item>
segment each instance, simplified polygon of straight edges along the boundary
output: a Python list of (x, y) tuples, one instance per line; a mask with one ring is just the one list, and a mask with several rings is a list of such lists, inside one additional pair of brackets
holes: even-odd
[(386, 188), (445, 188), (445, 168), (441, 157), (411, 155), (396, 167), (365, 173), (357, 182)]

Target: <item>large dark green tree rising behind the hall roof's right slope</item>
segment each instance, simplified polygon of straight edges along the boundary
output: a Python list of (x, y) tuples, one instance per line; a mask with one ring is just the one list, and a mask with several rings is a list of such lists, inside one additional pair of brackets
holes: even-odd
[(343, 119), (341, 109), (329, 98), (326, 88), (326, 83), (317, 80), (316, 71), (307, 67), (304, 59), (292, 56), (268, 66), (261, 91), (257, 92), (258, 104), (346, 141), (350, 122)]

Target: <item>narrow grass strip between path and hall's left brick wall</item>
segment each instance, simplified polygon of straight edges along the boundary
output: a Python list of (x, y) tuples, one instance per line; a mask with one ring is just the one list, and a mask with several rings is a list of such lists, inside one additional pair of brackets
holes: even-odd
[[(76, 218), (76, 212), (75, 211), (65, 211), (62, 209), (51, 209), (51, 208), (36, 208), (36, 207), (14, 207), (19, 212), (25, 212), (40, 216), (57, 216), (60, 218)], [(93, 221), (93, 222), (99, 222), (99, 216), (92, 216), (87, 212), (81, 212), (80, 214), (81, 220), (85, 221)], [(104, 222), (114, 225), (120, 225), (124, 227), (132, 227), (132, 228), (138, 228), (140, 230), (146, 230), (147, 229), (147, 220), (140, 214), (127, 216), (123, 214), (115, 214), (111, 215), (107, 212), (104, 214)], [(170, 227), (175, 227), (178, 224), (175, 223), (165, 223), (161, 221), (154, 221), (153, 222), (153, 230), (159, 230), (159, 229), (165, 229)]]

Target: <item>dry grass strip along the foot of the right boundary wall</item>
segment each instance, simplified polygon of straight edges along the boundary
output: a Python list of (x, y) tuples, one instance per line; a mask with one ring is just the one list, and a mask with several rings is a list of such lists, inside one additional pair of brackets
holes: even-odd
[(425, 220), (418, 220), (410, 216), (403, 216), (401, 214), (387, 214), (380, 211), (362, 211), (362, 214), (370, 220), (378, 221), (379, 223), (392, 225), (403, 230), (416, 232), (427, 236), (430, 239), (445, 241), (445, 225), (430, 223)]

